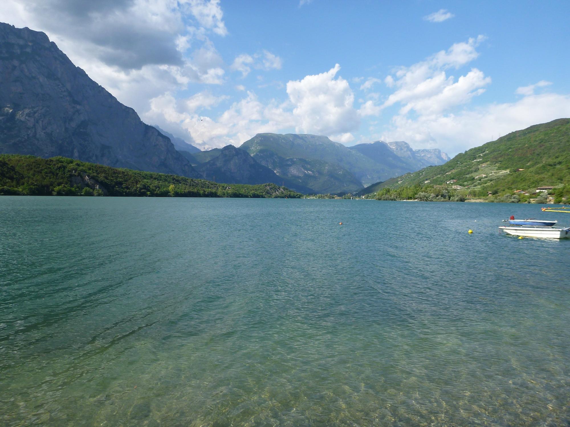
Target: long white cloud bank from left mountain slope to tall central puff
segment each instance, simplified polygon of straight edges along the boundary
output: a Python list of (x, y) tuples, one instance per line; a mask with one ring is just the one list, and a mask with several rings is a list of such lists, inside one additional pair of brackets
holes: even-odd
[(348, 82), (336, 76), (339, 69), (337, 64), (327, 72), (289, 81), (288, 100), (284, 102), (263, 103), (254, 92), (248, 91), (246, 97), (231, 104), (218, 117), (204, 115), (204, 110), (225, 97), (203, 91), (176, 100), (166, 93), (152, 99), (143, 118), (159, 126), (166, 122), (164, 126), (172, 123), (185, 129), (203, 149), (230, 143), (239, 146), (257, 133), (290, 129), (350, 142), (354, 139), (352, 132), (359, 127), (360, 115), (353, 108), (354, 95)]

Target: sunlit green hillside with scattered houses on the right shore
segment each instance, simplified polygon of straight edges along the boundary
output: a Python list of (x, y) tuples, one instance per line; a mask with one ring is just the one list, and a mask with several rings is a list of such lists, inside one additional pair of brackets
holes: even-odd
[(378, 189), (411, 186), (461, 186), (475, 197), (540, 186), (565, 193), (565, 186), (570, 186), (570, 119), (512, 132), (458, 154), (444, 165), (386, 180)]

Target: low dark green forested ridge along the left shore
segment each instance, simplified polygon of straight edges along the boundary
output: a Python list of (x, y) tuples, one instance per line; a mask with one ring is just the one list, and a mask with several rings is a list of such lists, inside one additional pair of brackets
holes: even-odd
[(276, 184), (218, 184), (153, 172), (80, 162), (65, 157), (0, 155), (0, 195), (109, 195), (299, 198)]

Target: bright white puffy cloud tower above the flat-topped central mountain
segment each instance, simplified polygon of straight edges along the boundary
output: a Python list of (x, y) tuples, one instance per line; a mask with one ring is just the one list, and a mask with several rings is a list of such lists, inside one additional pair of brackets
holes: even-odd
[(336, 64), (327, 72), (287, 83), (297, 132), (328, 136), (359, 127), (360, 119), (353, 108), (354, 94), (348, 81), (342, 77), (335, 79), (339, 70), (340, 65)]

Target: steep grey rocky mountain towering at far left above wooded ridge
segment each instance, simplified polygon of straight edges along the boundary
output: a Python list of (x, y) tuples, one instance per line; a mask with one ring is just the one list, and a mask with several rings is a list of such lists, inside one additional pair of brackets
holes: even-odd
[(0, 153), (65, 156), (197, 177), (170, 139), (141, 122), (43, 32), (0, 23)]

